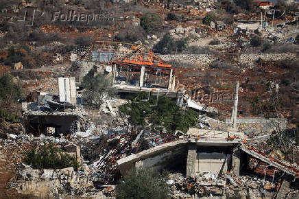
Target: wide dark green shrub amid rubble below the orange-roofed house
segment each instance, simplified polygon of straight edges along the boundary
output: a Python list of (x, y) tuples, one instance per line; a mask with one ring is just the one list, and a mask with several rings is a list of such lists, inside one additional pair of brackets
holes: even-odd
[(183, 111), (175, 101), (171, 101), (165, 96), (158, 98), (158, 106), (155, 106), (156, 97), (151, 97), (148, 102), (141, 101), (147, 95), (147, 93), (140, 93), (131, 103), (120, 106), (121, 117), (128, 116), (132, 125), (164, 126), (169, 132), (174, 130), (187, 132), (189, 127), (195, 126), (197, 123), (198, 113), (195, 110)]

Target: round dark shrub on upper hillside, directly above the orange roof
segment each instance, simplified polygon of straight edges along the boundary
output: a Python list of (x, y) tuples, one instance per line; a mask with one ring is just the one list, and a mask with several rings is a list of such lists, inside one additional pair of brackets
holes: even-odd
[(163, 18), (157, 13), (147, 13), (141, 17), (141, 27), (147, 34), (154, 34), (163, 28)]

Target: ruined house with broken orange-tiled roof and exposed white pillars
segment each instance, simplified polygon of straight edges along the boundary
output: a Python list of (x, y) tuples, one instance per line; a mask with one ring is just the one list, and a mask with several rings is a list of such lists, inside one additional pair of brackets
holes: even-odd
[(178, 97), (174, 69), (145, 45), (97, 41), (77, 62), (76, 81), (88, 72), (104, 73), (119, 93), (152, 92), (154, 95)]

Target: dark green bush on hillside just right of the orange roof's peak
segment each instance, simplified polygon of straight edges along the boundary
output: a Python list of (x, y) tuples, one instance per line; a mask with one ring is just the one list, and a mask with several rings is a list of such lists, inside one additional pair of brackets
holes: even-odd
[(174, 40), (169, 34), (165, 34), (163, 38), (154, 46), (154, 52), (159, 54), (171, 54), (181, 52), (187, 47), (187, 39)]

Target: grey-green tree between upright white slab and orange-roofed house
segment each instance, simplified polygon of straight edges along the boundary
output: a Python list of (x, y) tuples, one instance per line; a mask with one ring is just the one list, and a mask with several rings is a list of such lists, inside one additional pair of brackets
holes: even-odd
[(86, 75), (83, 79), (82, 86), (85, 91), (83, 98), (87, 104), (93, 108), (100, 108), (106, 97), (112, 97), (116, 91), (112, 88), (112, 82), (104, 74), (95, 76)]

